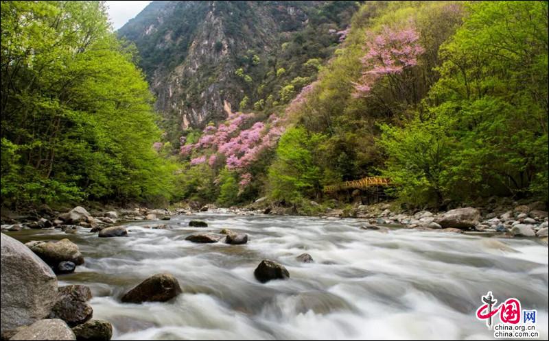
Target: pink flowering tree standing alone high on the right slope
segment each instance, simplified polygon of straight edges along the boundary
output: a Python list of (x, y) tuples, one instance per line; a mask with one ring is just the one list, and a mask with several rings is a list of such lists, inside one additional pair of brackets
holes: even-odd
[(425, 51), (412, 25), (404, 29), (384, 26), (379, 34), (368, 33), (373, 38), (366, 42), (366, 54), (361, 59), (365, 71), (353, 83), (353, 97), (356, 98), (369, 94), (379, 78), (401, 75), (416, 66), (419, 56)]

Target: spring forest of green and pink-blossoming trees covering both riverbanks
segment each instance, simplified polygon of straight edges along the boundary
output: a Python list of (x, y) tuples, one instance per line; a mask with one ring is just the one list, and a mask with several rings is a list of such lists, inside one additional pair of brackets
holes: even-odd
[[(373, 175), (408, 205), (547, 203), (547, 1), (369, 1), (349, 24), (324, 58), (288, 53), (288, 84), (174, 146), (104, 3), (2, 1), (1, 205), (267, 197), (309, 212), (334, 205), (324, 186)], [(246, 58), (244, 86), (261, 62)]]

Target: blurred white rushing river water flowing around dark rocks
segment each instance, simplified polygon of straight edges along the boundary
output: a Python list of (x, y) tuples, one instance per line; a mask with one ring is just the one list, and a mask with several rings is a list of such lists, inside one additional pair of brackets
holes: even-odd
[[(187, 227), (191, 218), (209, 227)], [(359, 229), (357, 219), (198, 214), (161, 222), (171, 230), (140, 227), (150, 223), (128, 224), (127, 238), (82, 229), (19, 239), (79, 245), (85, 264), (60, 285), (91, 287), (94, 318), (113, 323), (113, 339), (487, 339), (493, 331), (475, 312), (488, 291), (536, 309), (539, 340), (548, 339), (548, 247), (537, 240), (381, 233)], [(223, 228), (248, 233), (248, 244), (185, 240)], [(295, 260), (304, 252), (313, 264)], [(256, 281), (253, 270), (264, 259), (285, 265), (290, 279)], [(163, 272), (178, 278), (184, 294), (167, 303), (120, 302)]]

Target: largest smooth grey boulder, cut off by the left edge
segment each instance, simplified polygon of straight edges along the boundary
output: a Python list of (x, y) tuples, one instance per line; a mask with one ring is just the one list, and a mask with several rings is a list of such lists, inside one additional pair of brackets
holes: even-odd
[(51, 268), (14, 238), (1, 233), (1, 336), (48, 316), (57, 301)]

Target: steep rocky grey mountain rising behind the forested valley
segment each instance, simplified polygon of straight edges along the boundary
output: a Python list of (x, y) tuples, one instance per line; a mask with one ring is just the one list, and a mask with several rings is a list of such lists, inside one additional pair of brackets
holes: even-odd
[[(224, 120), (224, 104), (277, 110), (338, 48), (355, 1), (153, 1), (135, 42), (167, 140)], [(344, 37), (343, 37), (344, 38)]]

